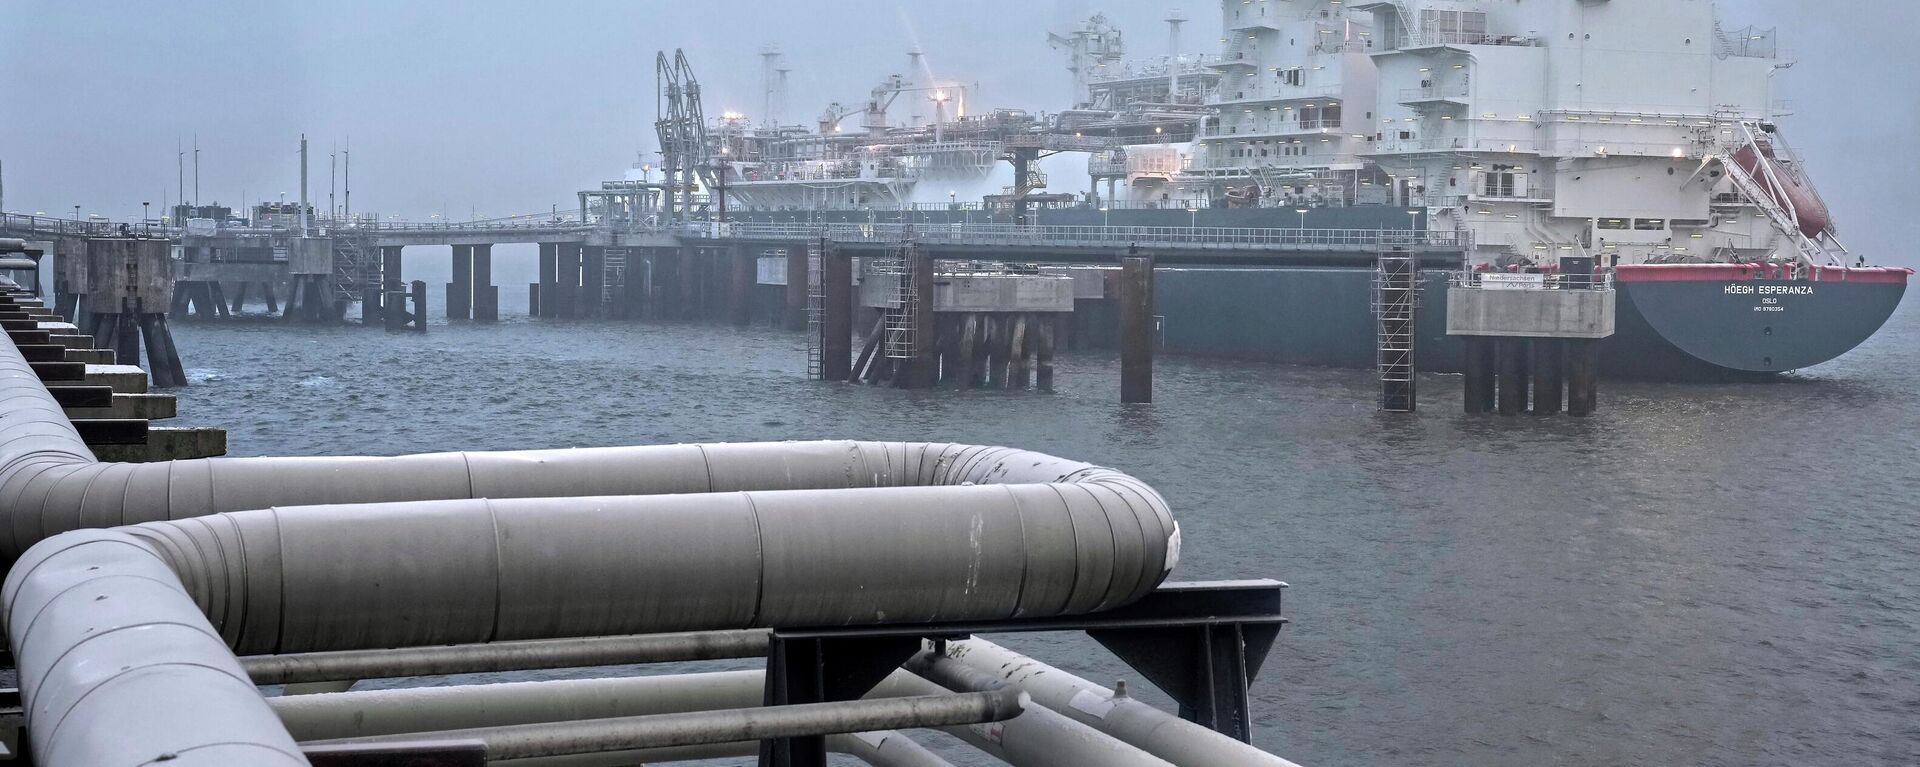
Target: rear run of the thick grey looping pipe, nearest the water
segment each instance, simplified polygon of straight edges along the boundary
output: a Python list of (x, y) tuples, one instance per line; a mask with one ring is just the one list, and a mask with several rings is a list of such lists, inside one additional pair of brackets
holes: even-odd
[(275, 506), (956, 484), (1071, 486), (1062, 492), (1135, 515), (1146, 556), (1179, 556), (1165, 500), (1139, 479), (1016, 448), (743, 442), (96, 463), (19, 352), (0, 344), (0, 561), (65, 531)]

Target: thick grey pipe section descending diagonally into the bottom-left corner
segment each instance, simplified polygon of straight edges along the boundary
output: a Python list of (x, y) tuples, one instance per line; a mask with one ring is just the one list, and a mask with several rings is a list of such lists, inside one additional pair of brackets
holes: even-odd
[(138, 538), (61, 534), (8, 573), (4, 594), (36, 765), (307, 763), (179, 577)]

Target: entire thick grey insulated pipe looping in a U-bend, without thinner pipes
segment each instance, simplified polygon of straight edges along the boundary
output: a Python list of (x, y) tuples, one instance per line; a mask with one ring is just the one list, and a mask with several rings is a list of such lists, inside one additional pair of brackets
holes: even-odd
[(1179, 559), (1150, 486), (1012, 448), (98, 463), (13, 344), (0, 513), (50, 767), (305, 763), (234, 652), (1068, 615)]

